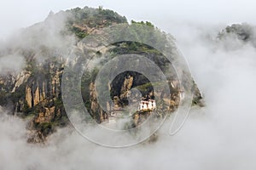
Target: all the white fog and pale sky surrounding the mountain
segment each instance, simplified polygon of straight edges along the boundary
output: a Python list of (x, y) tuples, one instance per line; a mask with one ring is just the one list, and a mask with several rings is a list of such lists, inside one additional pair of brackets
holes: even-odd
[[(227, 51), (223, 47), (233, 43), (232, 40), (222, 43), (221, 47), (211, 42), (212, 37), (216, 37), (225, 24), (254, 22), (256, 12), (253, 1), (5, 2), (0, 5), (1, 38), (17, 28), (44, 20), (49, 10), (57, 12), (78, 4), (81, 7), (103, 5), (104, 8), (112, 8), (124, 14), (129, 20), (153, 21), (156, 26), (176, 37), (177, 45), (188, 59), (207, 106), (192, 109), (188, 121), (176, 135), (169, 136), (165, 129), (161, 129), (156, 143), (138, 144), (126, 149), (108, 149), (92, 144), (72, 127), (59, 129), (49, 137), (45, 145), (27, 144), (29, 132), (26, 131), (26, 121), (6, 116), (5, 111), (0, 111), (0, 169), (256, 168), (256, 50), (244, 44), (236, 50)], [(196, 24), (184, 24), (184, 20)], [(209, 23), (214, 23), (214, 26)], [(55, 35), (55, 31), (58, 31), (55, 26), (60, 26), (60, 23), (50, 26), (51, 29), (45, 34)], [(9, 43), (34, 49), (42, 45), (52, 47), (53, 44), (57, 45), (56, 48), (66, 47), (68, 41), (61, 38), (42, 37), (41, 44), (34, 44), (26, 38)], [(68, 37), (66, 40), (72, 41), (73, 38)], [(20, 55), (0, 58), (0, 71), (3, 74), (20, 71), (23, 66), (24, 59)]]

